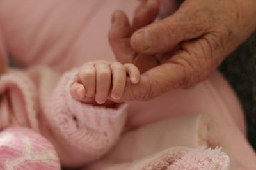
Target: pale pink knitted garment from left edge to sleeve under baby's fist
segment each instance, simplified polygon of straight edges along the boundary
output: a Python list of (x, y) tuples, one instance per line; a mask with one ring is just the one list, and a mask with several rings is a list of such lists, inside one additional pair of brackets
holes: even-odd
[(0, 77), (0, 128), (20, 125), (41, 132), (64, 166), (81, 166), (104, 155), (120, 136), (125, 106), (103, 108), (74, 101), (69, 88), (75, 76), (76, 70), (60, 79), (47, 67), (9, 69)]

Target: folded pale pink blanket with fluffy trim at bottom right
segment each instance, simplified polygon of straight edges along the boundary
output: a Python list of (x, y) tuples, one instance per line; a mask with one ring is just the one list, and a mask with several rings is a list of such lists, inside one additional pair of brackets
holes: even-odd
[[(126, 132), (106, 157), (85, 169), (230, 169), (229, 157), (209, 141), (212, 129), (218, 129), (210, 117), (168, 118)], [(215, 149), (206, 149), (210, 146)]]

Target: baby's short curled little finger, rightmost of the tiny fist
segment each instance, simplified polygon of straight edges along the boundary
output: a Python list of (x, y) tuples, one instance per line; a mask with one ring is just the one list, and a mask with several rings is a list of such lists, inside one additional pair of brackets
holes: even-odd
[(140, 81), (140, 71), (139, 69), (132, 63), (124, 64), (125, 70), (130, 77), (130, 81), (132, 84), (137, 84)]

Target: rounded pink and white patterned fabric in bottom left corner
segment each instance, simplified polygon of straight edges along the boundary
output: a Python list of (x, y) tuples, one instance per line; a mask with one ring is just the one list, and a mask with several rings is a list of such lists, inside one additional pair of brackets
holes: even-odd
[(0, 169), (60, 169), (52, 144), (40, 134), (24, 127), (0, 132)]

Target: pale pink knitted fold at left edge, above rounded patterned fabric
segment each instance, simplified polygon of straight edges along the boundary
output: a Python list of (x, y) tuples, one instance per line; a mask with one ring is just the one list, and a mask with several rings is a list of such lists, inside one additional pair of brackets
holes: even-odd
[(16, 124), (39, 131), (36, 87), (28, 75), (8, 69), (0, 76), (0, 95), (0, 129)]

